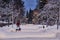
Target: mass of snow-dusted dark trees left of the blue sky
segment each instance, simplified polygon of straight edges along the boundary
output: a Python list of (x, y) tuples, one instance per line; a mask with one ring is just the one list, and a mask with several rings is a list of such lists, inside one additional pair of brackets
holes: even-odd
[(10, 21), (15, 18), (23, 18), (24, 2), (22, 0), (0, 0), (0, 12), (7, 16), (10, 15), (9, 18), (7, 17)]

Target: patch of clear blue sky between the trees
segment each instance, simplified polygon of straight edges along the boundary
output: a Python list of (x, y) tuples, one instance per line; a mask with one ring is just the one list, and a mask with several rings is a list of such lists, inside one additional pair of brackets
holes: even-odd
[(24, 1), (26, 11), (29, 10), (30, 8), (32, 10), (36, 8), (36, 5), (37, 5), (36, 0), (23, 0), (23, 1)]

